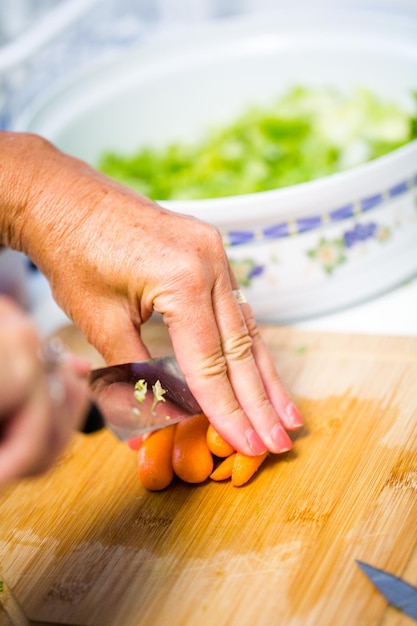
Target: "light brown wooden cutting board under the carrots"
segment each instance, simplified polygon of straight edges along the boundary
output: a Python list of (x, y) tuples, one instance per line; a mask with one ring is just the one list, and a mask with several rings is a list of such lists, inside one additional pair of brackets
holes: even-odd
[[(150, 329), (153, 353), (170, 352), (161, 327)], [(75, 435), (53, 470), (1, 497), (1, 573), (26, 617), (415, 623), (387, 607), (355, 559), (417, 584), (417, 338), (262, 333), (305, 418), (294, 450), (241, 488), (177, 481), (150, 493), (126, 444)], [(72, 327), (64, 340), (100, 363)]]

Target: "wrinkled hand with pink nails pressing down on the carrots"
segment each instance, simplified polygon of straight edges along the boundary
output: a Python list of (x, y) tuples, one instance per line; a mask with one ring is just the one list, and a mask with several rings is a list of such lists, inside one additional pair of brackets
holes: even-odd
[(233, 295), (238, 285), (218, 231), (164, 210), (39, 138), (26, 141), (41, 165), (32, 165), (30, 189), (20, 188), (24, 218), (14, 245), (20, 242), (107, 363), (149, 357), (140, 329), (157, 311), (218, 432), (247, 454), (289, 450), (285, 429), (302, 420), (249, 304)]

